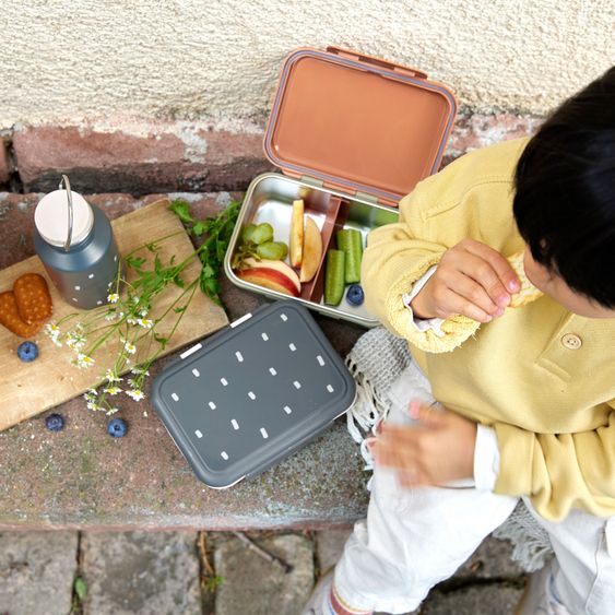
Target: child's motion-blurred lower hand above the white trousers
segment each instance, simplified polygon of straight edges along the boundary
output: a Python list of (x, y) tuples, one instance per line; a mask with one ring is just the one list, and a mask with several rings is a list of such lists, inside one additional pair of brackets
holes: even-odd
[(403, 486), (474, 476), (476, 424), (447, 409), (410, 404), (414, 426), (383, 424), (369, 443), (376, 464), (398, 470)]

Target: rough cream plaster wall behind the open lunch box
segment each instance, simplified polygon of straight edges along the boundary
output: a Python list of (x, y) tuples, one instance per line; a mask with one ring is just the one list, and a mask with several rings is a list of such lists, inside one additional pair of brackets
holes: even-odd
[(261, 120), (285, 55), (415, 66), (462, 106), (542, 114), (615, 60), (615, 0), (0, 0), (0, 129)]

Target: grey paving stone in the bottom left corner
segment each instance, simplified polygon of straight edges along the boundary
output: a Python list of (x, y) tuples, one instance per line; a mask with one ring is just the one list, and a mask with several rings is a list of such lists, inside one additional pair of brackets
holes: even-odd
[(76, 532), (1, 533), (0, 613), (67, 615), (76, 549)]

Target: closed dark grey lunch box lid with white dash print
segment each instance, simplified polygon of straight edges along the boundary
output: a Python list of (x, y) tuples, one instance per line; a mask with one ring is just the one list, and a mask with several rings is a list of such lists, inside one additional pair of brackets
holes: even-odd
[(180, 355), (152, 404), (197, 476), (224, 488), (260, 474), (353, 404), (355, 382), (309, 311), (263, 306)]

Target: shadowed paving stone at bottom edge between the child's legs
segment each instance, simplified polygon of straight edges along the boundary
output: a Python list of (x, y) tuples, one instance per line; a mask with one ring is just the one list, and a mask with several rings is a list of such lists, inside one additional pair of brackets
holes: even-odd
[(512, 615), (523, 588), (509, 583), (476, 584), (450, 592), (431, 591), (421, 615)]

